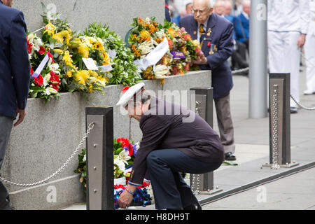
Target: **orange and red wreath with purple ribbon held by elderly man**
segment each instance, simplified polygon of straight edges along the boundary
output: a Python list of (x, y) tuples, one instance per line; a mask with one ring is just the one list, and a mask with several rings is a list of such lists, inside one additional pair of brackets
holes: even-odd
[(180, 29), (173, 22), (165, 20), (163, 29), (169, 41), (169, 50), (173, 55), (171, 64), (172, 75), (188, 72), (193, 60), (201, 52), (199, 42), (193, 41), (190, 34), (185, 31), (185, 28)]

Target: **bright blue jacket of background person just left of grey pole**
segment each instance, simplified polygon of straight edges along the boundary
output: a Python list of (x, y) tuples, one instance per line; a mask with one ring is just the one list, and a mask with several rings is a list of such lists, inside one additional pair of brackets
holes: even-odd
[(236, 40), (241, 43), (249, 39), (249, 20), (243, 13), (235, 17), (235, 34)]

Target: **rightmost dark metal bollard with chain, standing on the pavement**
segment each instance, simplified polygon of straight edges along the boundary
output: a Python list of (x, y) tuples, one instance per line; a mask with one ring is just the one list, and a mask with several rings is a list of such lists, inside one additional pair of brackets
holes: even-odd
[(295, 167), (290, 156), (290, 73), (269, 74), (269, 164), (263, 167)]

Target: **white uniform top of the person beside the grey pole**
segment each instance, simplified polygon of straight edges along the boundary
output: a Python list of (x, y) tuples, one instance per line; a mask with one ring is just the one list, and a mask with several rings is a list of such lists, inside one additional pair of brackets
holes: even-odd
[(307, 34), (309, 0), (268, 0), (269, 31), (299, 31)]

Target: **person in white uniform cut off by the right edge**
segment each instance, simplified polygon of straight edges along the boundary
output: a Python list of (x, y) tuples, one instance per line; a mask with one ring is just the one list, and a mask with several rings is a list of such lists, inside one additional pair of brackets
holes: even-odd
[(309, 8), (311, 10), (311, 22), (309, 22), (309, 29), (304, 45), (305, 65), (307, 67), (307, 90), (304, 90), (305, 95), (315, 94), (315, 0), (309, 1)]

